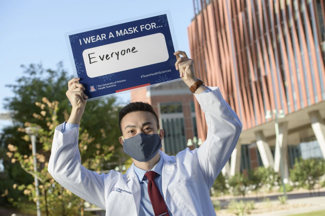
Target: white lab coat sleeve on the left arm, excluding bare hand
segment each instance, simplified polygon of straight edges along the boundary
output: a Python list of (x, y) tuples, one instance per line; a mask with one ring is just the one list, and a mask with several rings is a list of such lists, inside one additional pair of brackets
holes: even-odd
[(78, 148), (79, 127), (65, 133), (60, 124), (55, 132), (48, 172), (64, 188), (105, 210), (104, 174), (81, 165)]

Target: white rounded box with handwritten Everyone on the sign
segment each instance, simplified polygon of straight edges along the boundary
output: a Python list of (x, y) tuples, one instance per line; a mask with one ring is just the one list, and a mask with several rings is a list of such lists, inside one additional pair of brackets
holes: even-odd
[(164, 35), (157, 33), (87, 49), (83, 58), (93, 78), (165, 62), (169, 55)]

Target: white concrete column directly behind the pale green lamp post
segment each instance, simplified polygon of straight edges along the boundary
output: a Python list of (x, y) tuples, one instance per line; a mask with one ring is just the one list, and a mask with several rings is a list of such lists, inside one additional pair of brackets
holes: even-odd
[[(289, 167), (288, 167), (288, 122), (279, 124), (279, 140), (275, 142), (274, 154), (274, 171), (280, 173), (280, 156), (282, 156), (283, 165), (283, 181), (288, 183), (289, 180)], [(280, 154), (282, 152), (282, 155)], [(282, 173), (281, 173), (282, 175)]]

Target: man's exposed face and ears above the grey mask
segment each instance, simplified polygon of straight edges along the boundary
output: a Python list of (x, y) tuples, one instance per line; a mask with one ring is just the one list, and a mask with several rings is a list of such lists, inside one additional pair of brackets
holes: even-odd
[[(158, 133), (156, 117), (147, 111), (136, 111), (126, 114), (121, 121), (123, 138), (127, 139), (138, 133)], [(160, 130), (159, 136), (163, 138), (164, 131)], [(122, 137), (119, 138), (123, 145)]]

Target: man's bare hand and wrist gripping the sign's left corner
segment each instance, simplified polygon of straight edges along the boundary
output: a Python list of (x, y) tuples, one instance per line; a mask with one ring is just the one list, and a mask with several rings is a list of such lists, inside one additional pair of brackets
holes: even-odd
[(68, 82), (66, 95), (72, 105), (72, 111), (67, 123), (79, 124), (85, 111), (88, 96), (84, 94), (85, 87), (79, 80), (80, 78), (73, 78)]

